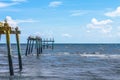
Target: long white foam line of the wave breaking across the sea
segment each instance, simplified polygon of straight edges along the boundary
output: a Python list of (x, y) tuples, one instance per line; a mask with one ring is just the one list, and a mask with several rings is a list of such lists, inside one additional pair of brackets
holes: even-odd
[[(32, 54), (33, 56), (36, 56), (37, 54)], [(100, 52), (93, 52), (93, 53), (80, 53), (77, 52), (76, 54), (70, 53), (70, 52), (58, 52), (58, 53), (43, 53), (40, 54), (41, 56), (81, 56), (81, 57), (93, 57), (93, 58), (119, 58), (120, 54), (102, 54)], [(30, 55), (31, 56), (31, 55)]]

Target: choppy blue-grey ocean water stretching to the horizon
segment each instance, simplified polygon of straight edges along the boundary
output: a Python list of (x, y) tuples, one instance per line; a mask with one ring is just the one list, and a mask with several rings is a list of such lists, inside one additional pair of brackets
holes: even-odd
[(120, 44), (55, 44), (39, 57), (25, 56), (19, 72), (16, 45), (11, 45), (14, 76), (9, 76), (6, 45), (0, 45), (0, 80), (120, 80)]

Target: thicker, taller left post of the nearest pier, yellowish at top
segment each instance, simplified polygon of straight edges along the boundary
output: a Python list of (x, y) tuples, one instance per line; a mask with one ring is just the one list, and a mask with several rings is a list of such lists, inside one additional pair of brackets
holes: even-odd
[(8, 62), (9, 62), (9, 71), (10, 75), (14, 75), (13, 71), (13, 62), (12, 62), (12, 56), (11, 56), (11, 45), (10, 45), (10, 27), (5, 20), (4, 26), (6, 28), (6, 43), (7, 43), (7, 49), (8, 49)]

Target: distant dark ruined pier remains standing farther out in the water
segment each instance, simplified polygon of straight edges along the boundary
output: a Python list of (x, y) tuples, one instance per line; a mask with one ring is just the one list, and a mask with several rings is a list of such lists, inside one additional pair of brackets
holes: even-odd
[(37, 56), (43, 52), (43, 49), (54, 49), (54, 39), (42, 39), (39, 36), (29, 36), (27, 39), (27, 47), (26, 47), (26, 53), (31, 54), (33, 52), (33, 49), (36, 49)]

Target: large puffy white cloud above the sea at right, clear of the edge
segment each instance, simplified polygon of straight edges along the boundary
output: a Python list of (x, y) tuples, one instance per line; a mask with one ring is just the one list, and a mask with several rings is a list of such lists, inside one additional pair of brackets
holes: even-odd
[(97, 29), (102, 33), (110, 33), (112, 26), (110, 25), (113, 21), (110, 19), (98, 21), (96, 18), (91, 20), (91, 23), (87, 25), (89, 29)]

